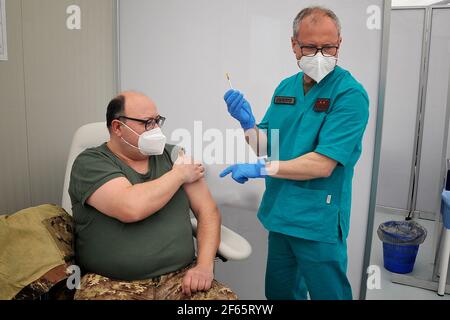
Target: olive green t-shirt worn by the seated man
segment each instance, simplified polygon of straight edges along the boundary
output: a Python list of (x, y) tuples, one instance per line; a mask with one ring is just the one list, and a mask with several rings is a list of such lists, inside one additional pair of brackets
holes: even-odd
[(189, 200), (183, 188), (161, 210), (136, 223), (123, 223), (86, 203), (112, 179), (124, 177), (135, 185), (160, 178), (172, 169), (173, 148), (168, 145), (162, 155), (149, 157), (147, 174), (122, 162), (106, 143), (77, 157), (69, 194), (75, 255), (83, 272), (119, 280), (142, 280), (179, 270), (194, 261)]

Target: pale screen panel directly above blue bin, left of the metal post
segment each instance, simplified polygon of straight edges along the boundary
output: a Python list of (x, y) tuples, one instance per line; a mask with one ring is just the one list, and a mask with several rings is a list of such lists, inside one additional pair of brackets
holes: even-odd
[(391, 13), (377, 205), (409, 210), (415, 156), (425, 9)]

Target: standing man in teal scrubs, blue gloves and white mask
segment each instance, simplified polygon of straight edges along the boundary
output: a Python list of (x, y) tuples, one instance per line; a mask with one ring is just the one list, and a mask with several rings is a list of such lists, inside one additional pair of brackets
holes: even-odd
[[(291, 41), (303, 72), (281, 82), (259, 125), (243, 94), (225, 94), (247, 140), (258, 137), (252, 145), (258, 155), (269, 152), (267, 160), (231, 166), (221, 177), (231, 173), (239, 183), (266, 179), (258, 218), (269, 230), (268, 299), (306, 299), (308, 292), (311, 299), (352, 299), (346, 239), (369, 99), (337, 66), (341, 26), (331, 10), (302, 10)], [(278, 142), (271, 132), (278, 132)]]

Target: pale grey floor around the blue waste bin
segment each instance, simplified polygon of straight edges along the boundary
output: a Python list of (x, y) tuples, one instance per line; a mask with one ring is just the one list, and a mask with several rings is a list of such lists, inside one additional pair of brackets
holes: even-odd
[[(390, 220), (402, 220), (403, 217), (399, 215), (389, 215), (386, 213), (377, 212), (375, 216), (375, 230), (372, 239), (372, 252), (370, 257), (371, 265), (378, 265), (381, 269), (381, 289), (367, 290), (367, 300), (450, 300), (450, 295), (439, 297), (435, 291), (425, 290), (421, 288), (396, 284), (391, 281), (392, 274), (383, 267), (383, 247), (379, 240), (376, 230), (378, 226)], [(418, 221), (428, 231), (428, 236), (425, 242), (419, 247), (414, 270), (410, 276), (418, 279), (430, 280), (433, 272), (433, 234), (435, 223), (428, 220)], [(447, 283), (450, 283), (450, 274)]]

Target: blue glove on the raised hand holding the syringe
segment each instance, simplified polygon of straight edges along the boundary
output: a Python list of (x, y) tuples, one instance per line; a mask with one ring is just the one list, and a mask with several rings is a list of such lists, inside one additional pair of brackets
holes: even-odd
[(225, 93), (224, 100), (227, 104), (228, 112), (241, 123), (242, 129), (249, 130), (255, 127), (256, 121), (252, 108), (242, 93), (237, 90), (229, 90)]

